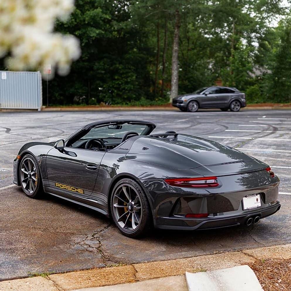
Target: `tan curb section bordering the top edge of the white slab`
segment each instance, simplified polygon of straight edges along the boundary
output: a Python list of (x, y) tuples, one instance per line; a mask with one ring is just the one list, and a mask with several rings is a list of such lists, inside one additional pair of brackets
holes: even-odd
[(251, 264), (252, 258), (241, 252), (220, 253), (169, 261), (134, 264), (137, 280), (148, 280), (172, 275), (182, 275), (186, 272), (200, 272), (201, 270), (217, 270), (238, 265)]

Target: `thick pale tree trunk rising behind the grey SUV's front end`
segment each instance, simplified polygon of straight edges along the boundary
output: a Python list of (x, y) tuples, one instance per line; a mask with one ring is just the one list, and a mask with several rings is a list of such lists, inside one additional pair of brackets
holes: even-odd
[(175, 31), (172, 51), (172, 78), (171, 78), (171, 97), (170, 101), (178, 95), (178, 78), (179, 78), (179, 67), (178, 67), (178, 54), (179, 54), (179, 30), (180, 30), (180, 13), (176, 10), (175, 16)]

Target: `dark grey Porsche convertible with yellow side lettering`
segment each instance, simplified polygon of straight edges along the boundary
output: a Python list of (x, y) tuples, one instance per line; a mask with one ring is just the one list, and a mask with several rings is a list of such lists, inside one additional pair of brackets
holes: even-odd
[(29, 142), (14, 160), (14, 183), (112, 217), (130, 237), (152, 226), (210, 229), (258, 223), (280, 209), (280, 180), (267, 164), (228, 146), (150, 133), (140, 120), (85, 125), (66, 140)]

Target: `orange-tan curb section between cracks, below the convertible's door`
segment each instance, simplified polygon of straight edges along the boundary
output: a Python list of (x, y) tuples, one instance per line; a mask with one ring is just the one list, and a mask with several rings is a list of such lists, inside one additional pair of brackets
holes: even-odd
[(128, 265), (53, 274), (48, 277), (66, 291), (135, 282), (135, 269), (132, 265)]

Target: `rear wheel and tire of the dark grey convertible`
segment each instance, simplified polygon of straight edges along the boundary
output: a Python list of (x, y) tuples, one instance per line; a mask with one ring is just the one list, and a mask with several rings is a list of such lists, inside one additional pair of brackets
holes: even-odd
[(152, 215), (147, 197), (134, 180), (125, 178), (116, 183), (110, 207), (113, 221), (123, 235), (136, 238), (151, 228)]

